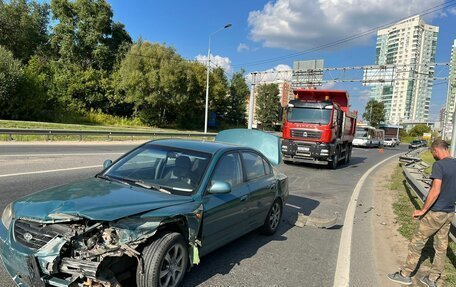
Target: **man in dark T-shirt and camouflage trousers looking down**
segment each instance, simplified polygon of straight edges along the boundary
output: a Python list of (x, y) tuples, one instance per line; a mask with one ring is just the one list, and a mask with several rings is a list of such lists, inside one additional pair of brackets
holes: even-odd
[(390, 280), (404, 285), (412, 284), (410, 275), (418, 264), (421, 250), (432, 236), (434, 261), (429, 275), (420, 278), (420, 281), (428, 287), (437, 286), (436, 281), (445, 265), (448, 232), (455, 212), (456, 160), (451, 157), (448, 144), (440, 139), (432, 143), (431, 153), (436, 159), (432, 166), (432, 186), (423, 208), (413, 213), (413, 217), (420, 218), (420, 223), (410, 242), (407, 260), (400, 271), (388, 274)]

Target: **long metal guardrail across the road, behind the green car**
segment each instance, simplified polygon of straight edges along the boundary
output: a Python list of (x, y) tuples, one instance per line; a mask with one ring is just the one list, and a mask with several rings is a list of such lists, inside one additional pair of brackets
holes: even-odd
[(79, 136), (82, 141), (83, 136), (106, 136), (107, 140), (115, 136), (151, 136), (151, 137), (207, 137), (213, 138), (216, 133), (185, 133), (185, 132), (147, 132), (147, 131), (101, 131), (101, 130), (54, 130), (54, 129), (6, 129), (0, 128), (0, 134), (7, 135), (7, 140), (11, 141), (13, 135), (42, 135), (46, 140), (51, 140), (53, 136)]

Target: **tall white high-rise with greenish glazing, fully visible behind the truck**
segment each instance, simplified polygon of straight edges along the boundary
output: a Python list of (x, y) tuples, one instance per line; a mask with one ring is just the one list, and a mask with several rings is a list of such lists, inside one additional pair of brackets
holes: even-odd
[(386, 122), (427, 122), (439, 27), (418, 15), (377, 32), (377, 65), (395, 65), (392, 83), (372, 87), (385, 105)]

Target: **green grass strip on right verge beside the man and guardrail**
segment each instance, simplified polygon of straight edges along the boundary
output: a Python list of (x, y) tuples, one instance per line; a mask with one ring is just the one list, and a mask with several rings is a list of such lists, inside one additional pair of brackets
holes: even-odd
[[(428, 156), (427, 158), (429, 159)], [(421, 208), (423, 204), (415, 195), (414, 191), (405, 185), (405, 177), (400, 166), (396, 167), (393, 175), (391, 176), (389, 188), (396, 191), (393, 210), (396, 220), (400, 226), (398, 231), (402, 234), (402, 236), (410, 240), (419, 223), (418, 220), (412, 218), (412, 213), (416, 209)], [(456, 244), (450, 239), (444, 271), (445, 286), (456, 286), (456, 257), (453, 252), (455, 250)], [(423, 257), (426, 258), (422, 265), (430, 266), (430, 258), (432, 258), (433, 253), (434, 249), (432, 247), (432, 239), (430, 239), (422, 252)]]

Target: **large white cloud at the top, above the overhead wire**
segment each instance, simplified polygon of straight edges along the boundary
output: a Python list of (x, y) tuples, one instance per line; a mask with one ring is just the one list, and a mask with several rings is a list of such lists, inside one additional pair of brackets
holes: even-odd
[[(250, 12), (250, 36), (265, 47), (308, 49), (398, 21), (444, 1), (276, 0), (261, 11)], [(362, 37), (355, 43), (367, 40)]]

